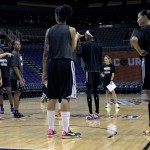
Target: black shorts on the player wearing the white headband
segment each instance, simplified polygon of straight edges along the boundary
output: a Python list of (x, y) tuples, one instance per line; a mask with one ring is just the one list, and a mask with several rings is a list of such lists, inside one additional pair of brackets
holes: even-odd
[(100, 85), (100, 72), (86, 72), (86, 84)]

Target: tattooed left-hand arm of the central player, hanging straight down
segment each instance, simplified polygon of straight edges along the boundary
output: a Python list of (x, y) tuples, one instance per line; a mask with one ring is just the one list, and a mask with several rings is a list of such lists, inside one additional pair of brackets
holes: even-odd
[(47, 66), (47, 59), (49, 54), (49, 41), (48, 41), (48, 32), (49, 29), (46, 31), (45, 34), (45, 42), (44, 42), (44, 52), (43, 52), (43, 74), (42, 74), (42, 81), (45, 82), (47, 80), (47, 73), (46, 73), (46, 66)]

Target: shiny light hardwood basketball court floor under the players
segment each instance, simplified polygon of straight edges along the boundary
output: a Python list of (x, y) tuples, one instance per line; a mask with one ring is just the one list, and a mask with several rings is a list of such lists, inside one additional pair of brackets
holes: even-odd
[[(105, 95), (100, 97), (98, 120), (86, 120), (88, 114), (86, 95), (78, 94), (71, 100), (71, 128), (81, 132), (81, 138), (61, 139), (61, 120), (55, 121), (57, 136), (47, 138), (46, 103), (40, 98), (22, 99), (20, 111), (25, 119), (15, 119), (10, 106), (4, 101), (5, 114), (0, 120), (1, 149), (45, 149), (45, 150), (143, 150), (150, 140), (143, 135), (148, 126), (147, 102), (139, 94), (118, 95), (121, 103), (116, 111), (105, 109)], [(93, 100), (94, 110), (94, 100)], [(150, 138), (149, 138), (150, 139)]]

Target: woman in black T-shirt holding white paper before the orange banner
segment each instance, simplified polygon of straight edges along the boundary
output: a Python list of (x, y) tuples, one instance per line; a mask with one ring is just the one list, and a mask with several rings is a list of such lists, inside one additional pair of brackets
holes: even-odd
[[(111, 107), (109, 103), (110, 95), (107, 89), (107, 85), (112, 84), (116, 71), (115, 71), (114, 65), (111, 63), (111, 58), (108, 55), (104, 56), (104, 63), (105, 64), (102, 67), (101, 76), (103, 77), (103, 87), (104, 87), (104, 90), (106, 91), (107, 105), (105, 106), (105, 108), (110, 108)], [(116, 109), (120, 108), (115, 90), (112, 90), (111, 93), (112, 93), (113, 99), (115, 100), (115, 108)]]

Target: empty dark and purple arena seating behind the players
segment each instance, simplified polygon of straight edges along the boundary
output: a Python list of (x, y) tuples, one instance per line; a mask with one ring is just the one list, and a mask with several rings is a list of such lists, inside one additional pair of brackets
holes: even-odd
[[(77, 26), (79, 32), (84, 33), (87, 29), (96, 31), (98, 42), (102, 45), (103, 51), (132, 50), (129, 38), (135, 26), (116, 25), (109, 27), (102, 26)], [(14, 35), (19, 33), (22, 41), (21, 53), (24, 59), (24, 77), (26, 86), (24, 87), (23, 97), (34, 97), (41, 95), (41, 73), (42, 73), (42, 54), (44, 50), (44, 36), (46, 28), (42, 27), (12, 27), (5, 26), (6, 33), (9, 29)], [(17, 31), (17, 32), (16, 32)], [(17, 35), (16, 35), (17, 36)], [(5, 49), (8, 51), (8, 49)], [(75, 61), (77, 91), (86, 92), (85, 74), (80, 59)], [(141, 91), (141, 82), (116, 83), (117, 93), (138, 93)], [(102, 84), (98, 88), (100, 93), (104, 93)]]

